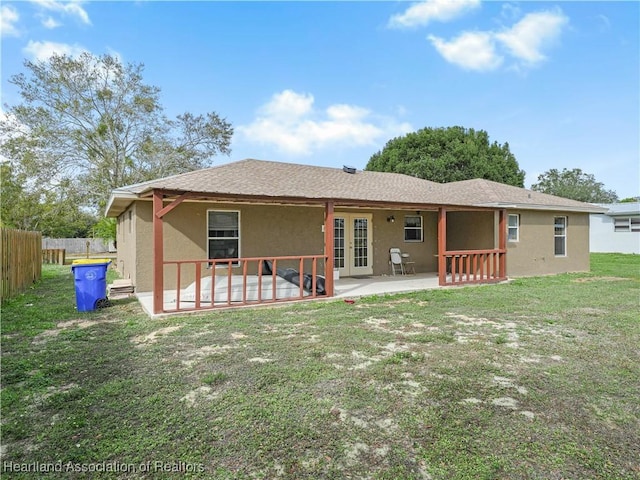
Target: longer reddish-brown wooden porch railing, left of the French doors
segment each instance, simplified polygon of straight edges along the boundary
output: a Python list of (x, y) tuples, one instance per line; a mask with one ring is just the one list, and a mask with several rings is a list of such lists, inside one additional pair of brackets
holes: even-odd
[[(164, 261), (165, 278), (169, 269), (173, 269), (175, 282), (173, 285), (165, 282), (164, 289), (170, 293), (165, 292), (162, 311), (209, 310), (324, 297), (325, 294), (318, 293), (324, 277), (320, 279), (318, 275), (321, 270), (324, 273), (324, 268), (319, 268), (319, 261), (324, 267), (325, 260), (324, 255), (300, 255)], [(279, 292), (279, 286), (286, 284), (277, 272), (284, 268), (298, 271), (299, 286), (293, 295), (282, 296)]]

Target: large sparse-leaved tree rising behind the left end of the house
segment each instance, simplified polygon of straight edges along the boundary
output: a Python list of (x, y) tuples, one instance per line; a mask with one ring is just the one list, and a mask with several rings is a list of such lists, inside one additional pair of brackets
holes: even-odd
[(143, 65), (110, 55), (53, 55), (14, 75), (22, 103), (5, 106), (0, 153), (36, 189), (65, 185), (103, 208), (111, 190), (210, 164), (230, 153), (233, 128), (216, 113), (166, 118), (160, 89), (143, 82)]

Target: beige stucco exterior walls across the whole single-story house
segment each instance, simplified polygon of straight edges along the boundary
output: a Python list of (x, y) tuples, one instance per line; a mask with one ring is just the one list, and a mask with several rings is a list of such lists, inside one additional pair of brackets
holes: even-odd
[[(243, 257), (323, 254), (322, 207), (184, 202), (164, 217), (165, 260), (207, 258), (207, 210), (240, 212), (240, 255)], [(424, 228), (422, 242), (404, 241), (404, 216), (415, 215), (414, 211), (336, 209), (336, 213), (339, 212), (366, 212), (372, 215), (374, 275), (390, 274), (389, 249), (392, 247), (410, 254), (416, 272), (437, 271), (437, 212), (420, 212)], [(509, 276), (589, 269), (588, 214), (536, 211), (508, 213), (520, 214), (521, 221), (520, 241), (507, 244)], [(395, 217), (393, 223), (387, 221), (391, 215)], [(553, 217), (558, 215), (568, 217), (566, 257), (555, 257), (553, 252)], [(152, 216), (151, 202), (138, 201), (118, 219), (118, 270), (123, 277), (131, 278), (138, 292), (152, 289)], [(494, 212), (448, 212), (447, 249), (495, 248), (497, 228), (497, 215)], [(191, 283), (193, 275), (193, 267), (184, 268), (181, 286)], [(167, 266), (165, 288), (174, 286), (175, 267)]]

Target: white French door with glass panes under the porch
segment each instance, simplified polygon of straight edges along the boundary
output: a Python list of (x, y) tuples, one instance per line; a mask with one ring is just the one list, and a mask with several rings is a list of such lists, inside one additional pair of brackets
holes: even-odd
[(372, 215), (336, 213), (333, 220), (333, 265), (340, 276), (373, 274)]

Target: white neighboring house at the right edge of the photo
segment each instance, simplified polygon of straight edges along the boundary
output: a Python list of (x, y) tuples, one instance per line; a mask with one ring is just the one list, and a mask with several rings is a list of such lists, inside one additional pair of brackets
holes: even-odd
[(640, 254), (640, 202), (599, 206), (607, 211), (590, 215), (591, 251)]

